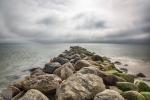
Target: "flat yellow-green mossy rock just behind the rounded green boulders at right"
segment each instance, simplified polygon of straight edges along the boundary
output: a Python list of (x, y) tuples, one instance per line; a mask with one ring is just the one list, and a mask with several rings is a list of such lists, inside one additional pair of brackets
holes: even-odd
[(127, 82), (134, 83), (134, 78), (135, 78), (134, 75), (127, 74), (127, 73), (114, 73), (114, 75), (124, 78)]

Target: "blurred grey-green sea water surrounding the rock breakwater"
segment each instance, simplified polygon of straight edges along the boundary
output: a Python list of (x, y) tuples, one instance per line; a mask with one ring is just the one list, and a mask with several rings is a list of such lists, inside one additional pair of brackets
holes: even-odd
[[(150, 45), (142, 44), (0, 44), (0, 89), (29, 74), (30, 68), (44, 67), (45, 63), (70, 46), (82, 46), (112, 61), (121, 61), (129, 73), (144, 73), (150, 78)], [(128, 64), (128, 66), (124, 66)]]

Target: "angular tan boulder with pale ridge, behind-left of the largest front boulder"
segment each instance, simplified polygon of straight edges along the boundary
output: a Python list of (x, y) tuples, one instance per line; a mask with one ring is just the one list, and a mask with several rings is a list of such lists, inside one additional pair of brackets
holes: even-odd
[(57, 68), (54, 71), (55, 75), (58, 75), (62, 80), (67, 79), (75, 72), (75, 69), (71, 63), (65, 63), (62, 67)]

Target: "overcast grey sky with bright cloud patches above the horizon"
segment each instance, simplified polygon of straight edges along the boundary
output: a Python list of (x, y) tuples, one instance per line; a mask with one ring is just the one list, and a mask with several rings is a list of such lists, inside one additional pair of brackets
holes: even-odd
[(150, 0), (0, 0), (0, 43), (150, 43)]

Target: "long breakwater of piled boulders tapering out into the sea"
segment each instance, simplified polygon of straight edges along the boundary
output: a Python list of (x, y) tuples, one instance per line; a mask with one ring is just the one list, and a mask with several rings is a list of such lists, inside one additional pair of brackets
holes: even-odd
[(0, 100), (150, 100), (150, 86), (109, 58), (70, 47), (1, 91)]

